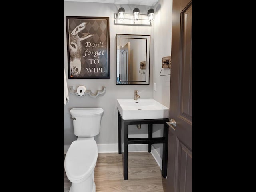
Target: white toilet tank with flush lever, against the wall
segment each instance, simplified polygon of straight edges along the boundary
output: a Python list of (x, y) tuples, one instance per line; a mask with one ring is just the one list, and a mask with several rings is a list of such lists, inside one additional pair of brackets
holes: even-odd
[(70, 114), (76, 136), (94, 137), (100, 133), (102, 108), (72, 108)]

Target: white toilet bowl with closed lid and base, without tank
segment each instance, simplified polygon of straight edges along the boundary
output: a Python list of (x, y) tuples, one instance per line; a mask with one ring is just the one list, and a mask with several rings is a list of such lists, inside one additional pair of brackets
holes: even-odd
[(94, 168), (98, 158), (95, 140), (73, 141), (66, 153), (64, 168), (72, 183), (69, 192), (95, 192)]

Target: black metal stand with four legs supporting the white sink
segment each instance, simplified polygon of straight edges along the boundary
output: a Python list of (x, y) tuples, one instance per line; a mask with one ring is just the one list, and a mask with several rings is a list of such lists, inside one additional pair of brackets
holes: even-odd
[[(132, 144), (148, 144), (148, 152), (151, 152), (151, 144), (163, 144), (163, 157), (162, 157), (162, 176), (167, 176), (167, 157), (168, 157), (168, 125), (165, 119), (140, 119), (140, 120), (123, 120), (118, 110), (118, 153), (122, 153), (122, 127), (123, 127), (123, 167), (124, 167), (124, 180), (128, 180), (128, 145)], [(128, 138), (128, 125), (148, 124), (148, 138)], [(163, 124), (164, 134), (163, 137), (152, 138), (152, 125)]]

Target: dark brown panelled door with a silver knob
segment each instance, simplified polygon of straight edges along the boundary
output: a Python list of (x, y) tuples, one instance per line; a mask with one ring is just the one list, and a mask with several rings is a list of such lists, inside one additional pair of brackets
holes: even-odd
[(172, 18), (167, 192), (192, 192), (192, 1), (173, 0)]

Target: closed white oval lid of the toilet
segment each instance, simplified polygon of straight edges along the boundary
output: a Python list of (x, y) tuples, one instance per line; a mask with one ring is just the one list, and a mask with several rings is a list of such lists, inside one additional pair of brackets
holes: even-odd
[(65, 157), (65, 171), (69, 179), (80, 180), (97, 162), (98, 148), (95, 140), (73, 141)]

